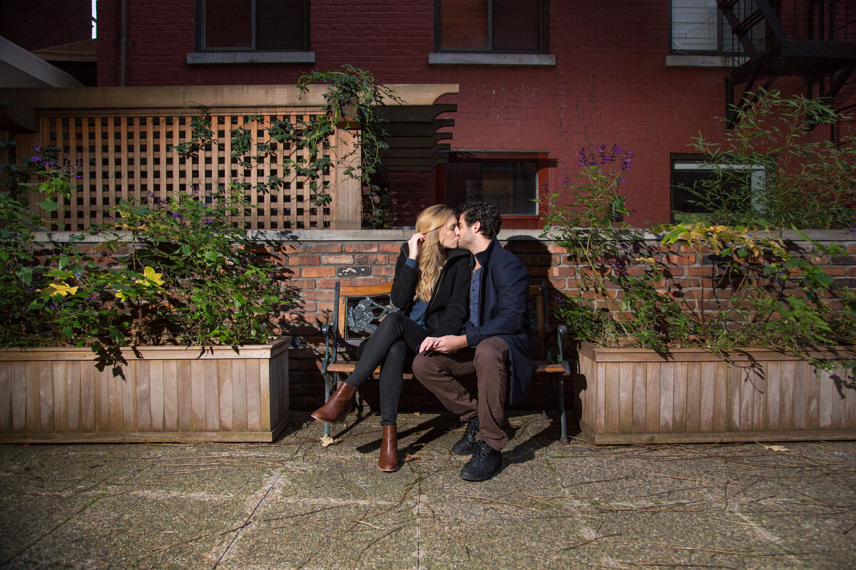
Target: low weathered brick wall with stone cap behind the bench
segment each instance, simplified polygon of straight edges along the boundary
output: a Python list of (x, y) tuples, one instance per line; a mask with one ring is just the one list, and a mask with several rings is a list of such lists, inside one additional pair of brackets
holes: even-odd
[[(295, 338), (289, 366), (292, 409), (311, 410), (323, 400), (324, 379), (318, 368), (318, 355), (324, 351), (320, 326), (331, 318), (336, 281), (346, 285), (373, 285), (392, 279), (401, 243), (412, 232), (312, 230), (254, 234), (259, 239), (259, 252), (272, 256), (276, 263), (282, 265), (282, 274), (287, 278), (282, 282), (283, 288), (291, 288), (299, 296), (292, 312), (276, 315), (282, 324), (282, 333)], [(823, 244), (838, 244), (847, 251), (846, 255), (823, 256), (818, 261), (835, 278), (835, 285), (856, 286), (856, 234), (809, 232), (809, 236)], [(55, 233), (52, 237), (63, 239), (66, 235)], [(46, 238), (44, 236), (43, 241), (48, 241)], [(506, 249), (513, 251), (526, 264), (532, 279), (546, 279), (556, 294), (575, 292), (577, 267), (563, 255), (564, 249), (550, 240), (538, 238), (537, 231), (506, 230), (500, 233), (499, 238)], [(650, 238), (653, 241), (655, 236)], [(793, 247), (805, 248), (806, 244), (794, 242)], [(663, 255), (669, 256), (669, 268), (675, 276), (704, 279), (701, 276), (703, 267), (699, 266), (699, 260), (692, 253), (675, 247)], [(551, 408), (555, 402), (554, 392), (545, 391), (545, 388), (546, 380), (536, 379), (530, 396), (518, 406), (537, 409), (546, 403)], [(377, 401), (376, 390), (376, 382), (367, 383), (363, 389), (370, 406)], [(570, 383), (566, 384), (566, 390), (570, 397)], [(415, 381), (408, 382), (402, 394), (401, 411), (431, 406), (439, 409), (436, 399), (421, 385)]]

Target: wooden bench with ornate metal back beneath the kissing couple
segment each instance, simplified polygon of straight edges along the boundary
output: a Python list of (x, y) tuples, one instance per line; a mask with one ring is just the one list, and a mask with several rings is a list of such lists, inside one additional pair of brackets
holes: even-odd
[[(392, 281), (381, 285), (340, 285), (336, 281), (333, 319), (321, 327), (324, 332), (324, 401), (336, 390), (338, 375), (354, 372), (358, 361), (356, 347), (377, 328), (377, 323), (395, 307), (389, 303)], [(532, 322), (532, 344), (535, 346), (536, 373), (555, 375), (559, 391), (559, 414), (562, 422), (562, 443), (568, 443), (565, 416), (564, 381), (571, 367), (562, 356), (562, 342), (568, 334), (566, 326), (551, 326), (547, 287), (544, 282), (529, 286), (529, 318)], [(340, 349), (348, 352), (348, 360), (340, 359)], [(380, 367), (375, 373), (380, 371)], [(324, 424), (324, 436), (330, 435), (330, 424)]]

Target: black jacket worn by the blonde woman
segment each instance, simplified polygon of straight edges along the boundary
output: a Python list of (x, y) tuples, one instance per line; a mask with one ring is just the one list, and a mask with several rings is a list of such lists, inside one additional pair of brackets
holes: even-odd
[[(395, 261), (395, 278), (389, 301), (410, 314), (413, 308), (413, 295), (419, 282), (419, 269), (407, 266), (410, 247), (405, 242)], [(425, 330), (432, 337), (447, 334), (461, 334), (461, 327), (467, 322), (469, 312), (471, 257), (465, 250), (449, 250), (446, 263), (440, 270), (440, 277), (428, 307), (425, 309)]]

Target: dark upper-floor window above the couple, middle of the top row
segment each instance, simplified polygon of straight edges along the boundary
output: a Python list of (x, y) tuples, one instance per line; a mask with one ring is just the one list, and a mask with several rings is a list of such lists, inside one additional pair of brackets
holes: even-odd
[(436, 0), (437, 51), (547, 52), (546, 0)]

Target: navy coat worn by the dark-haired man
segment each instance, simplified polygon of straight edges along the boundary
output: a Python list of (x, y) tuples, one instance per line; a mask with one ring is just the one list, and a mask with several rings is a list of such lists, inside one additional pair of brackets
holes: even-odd
[(508, 344), (511, 379), (508, 403), (526, 396), (535, 363), (532, 361), (532, 327), (529, 323), (529, 276), (517, 256), (502, 249), (494, 238), (476, 255), (482, 265), (479, 326), (467, 322), (467, 344), (499, 337)]

